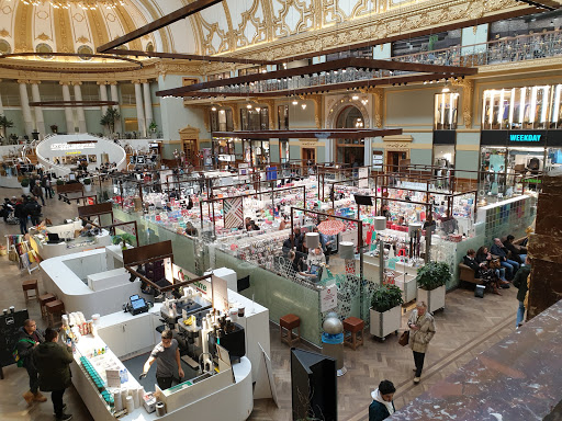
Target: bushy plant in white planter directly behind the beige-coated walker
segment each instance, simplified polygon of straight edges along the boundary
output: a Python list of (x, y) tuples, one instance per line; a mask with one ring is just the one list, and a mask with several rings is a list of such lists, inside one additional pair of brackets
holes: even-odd
[(445, 308), (446, 285), (451, 281), (451, 269), (443, 262), (429, 262), (417, 270), (417, 300), (425, 301), (432, 312)]

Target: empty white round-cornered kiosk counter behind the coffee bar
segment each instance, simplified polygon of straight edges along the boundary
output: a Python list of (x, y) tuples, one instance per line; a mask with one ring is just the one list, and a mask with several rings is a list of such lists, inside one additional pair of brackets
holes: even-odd
[(59, 255), (40, 263), (47, 292), (65, 304), (67, 312), (109, 315), (140, 294), (140, 281), (130, 282), (120, 246)]

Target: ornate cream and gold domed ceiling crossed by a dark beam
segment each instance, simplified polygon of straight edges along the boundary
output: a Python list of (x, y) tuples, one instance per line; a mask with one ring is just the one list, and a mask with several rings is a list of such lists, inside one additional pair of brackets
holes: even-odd
[[(54, 8), (57, 1), (68, 8)], [(88, 0), (95, 2), (95, 0)], [(100, 0), (103, 1), (111, 0)], [(212, 55), (234, 52), (425, 0), (224, 0), (124, 48)], [(86, 0), (82, 1), (85, 3)], [(0, 0), (0, 54), (92, 53), (191, 0)]]

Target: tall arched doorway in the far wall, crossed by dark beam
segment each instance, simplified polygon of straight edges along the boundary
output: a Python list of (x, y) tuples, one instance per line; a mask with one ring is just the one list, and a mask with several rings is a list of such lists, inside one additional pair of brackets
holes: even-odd
[[(355, 105), (348, 105), (340, 111), (336, 118), (336, 128), (364, 128), (366, 122), (361, 111)], [(337, 139), (336, 143), (337, 162), (362, 167), (364, 164), (364, 141), (363, 139)]]

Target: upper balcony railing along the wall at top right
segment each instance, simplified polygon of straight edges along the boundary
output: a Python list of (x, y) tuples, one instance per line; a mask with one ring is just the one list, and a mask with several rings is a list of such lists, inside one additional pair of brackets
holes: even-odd
[(562, 56), (562, 31), (512, 36), (474, 45), (457, 45), (392, 59), (428, 65), (477, 67), (555, 56)]

